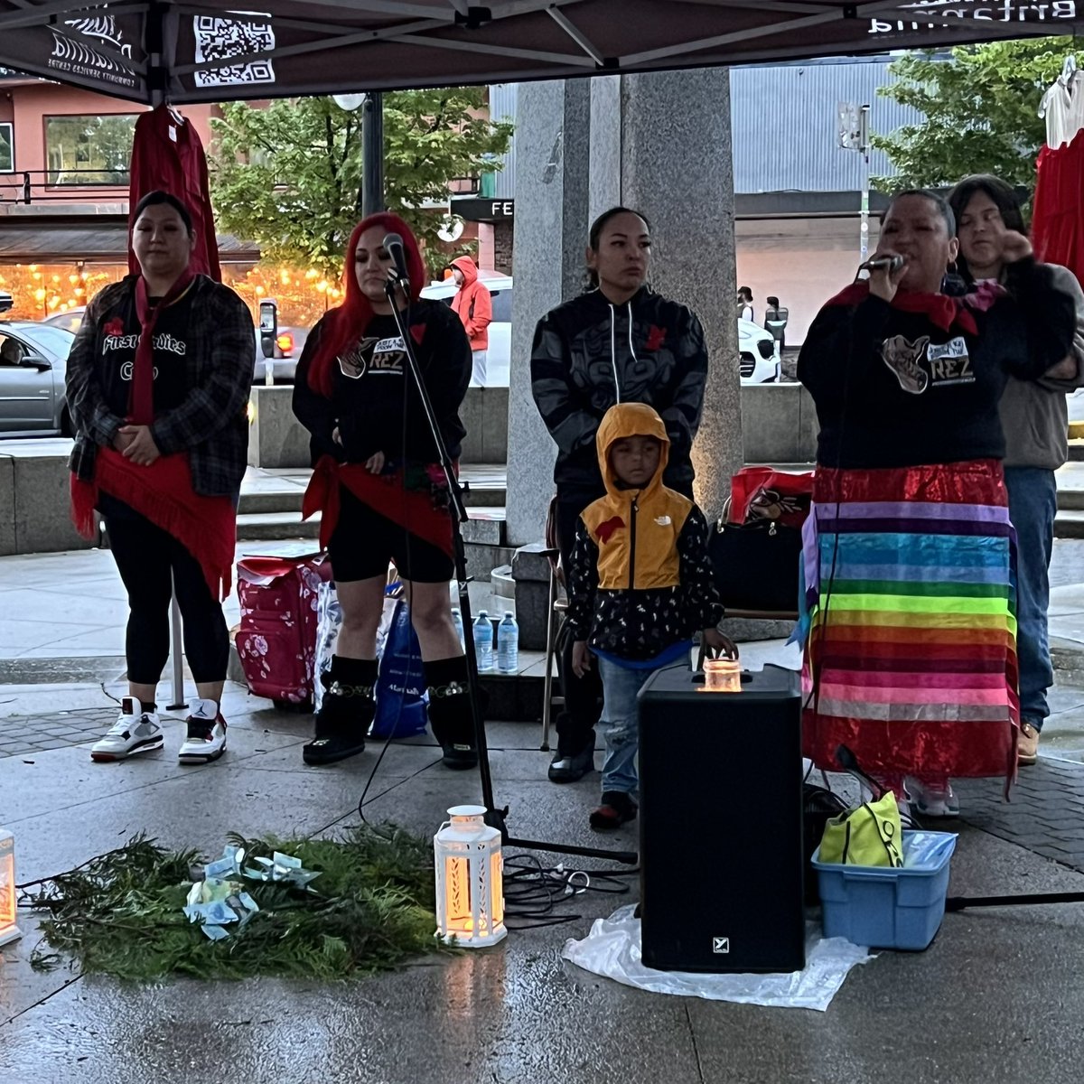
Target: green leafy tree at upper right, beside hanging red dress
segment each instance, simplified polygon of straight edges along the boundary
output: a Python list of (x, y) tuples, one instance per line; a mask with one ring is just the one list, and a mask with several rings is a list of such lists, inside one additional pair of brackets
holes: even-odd
[(994, 173), (1012, 185), (1035, 183), (1035, 156), (1046, 139), (1038, 103), (1058, 77), (1072, 38), (1030, 38), (917, 51), (894, 61), (896, 82), (879, 94), (926, 118), (890, 136), (874, 134), (899, 176), (874, 188), (941, 188), (970, 173)]

